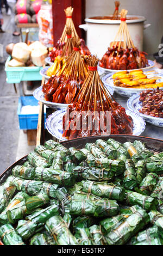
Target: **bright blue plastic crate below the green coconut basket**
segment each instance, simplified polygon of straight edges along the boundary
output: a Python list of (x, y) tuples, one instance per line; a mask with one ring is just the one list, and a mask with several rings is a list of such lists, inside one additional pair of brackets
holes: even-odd
[[(38, 101), (34, 98), (34, 96), (21, 96), (18, 99), (18, 108), (17, 115), (19, 120), (20, 129), (23, 130), (36, 130), (39, 114), (21, 114), (22, 106), (37, 106)], [(44, 113), (44, 118), (46, 120), (46, 113)]]

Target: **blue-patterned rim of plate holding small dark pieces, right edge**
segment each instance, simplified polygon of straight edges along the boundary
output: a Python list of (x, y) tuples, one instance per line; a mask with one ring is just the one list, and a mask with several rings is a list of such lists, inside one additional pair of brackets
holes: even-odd
[[(140, 97), (139, 93), (136, 93), (133, 96), (129, 97), (129, 99), (127, 101), (127, 107), (130, 109), (130, 111), (134, 111), (134, 113), (139, 114), (143, 118), (148, 118), (148, 119), (151, 119), (151, 120), (157, 120), (157, 121), (163, 122), (163, 118), (161, 118), (161, 117), (152, 117), (151, 115), (142, 114), (142, 113), (139, 112), (138, 109), (135, 109), (133, 107), (133, 101), (136, 100), (138, 102), (139, 97)], [(138, 104), (140, 105), (140, 107), (142, 107), (141, 103), (139, 103), (139, 102), (138, 102)]]

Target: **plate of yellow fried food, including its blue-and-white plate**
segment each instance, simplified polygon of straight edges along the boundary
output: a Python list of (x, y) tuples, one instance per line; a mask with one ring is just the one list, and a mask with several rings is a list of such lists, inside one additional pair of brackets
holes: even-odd
[(111, 86), (116, 93), (124, 97), (130, 97), (146, 89), (163, 89), (163, 75), (155, 70), (123, 70), (105, 75), (102, 81), (105, 86)]

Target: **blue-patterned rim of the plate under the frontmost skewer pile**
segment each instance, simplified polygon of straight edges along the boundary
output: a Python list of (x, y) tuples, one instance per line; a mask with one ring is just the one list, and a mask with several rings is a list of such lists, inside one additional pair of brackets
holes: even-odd
[[(55, 138), (59, 139), (60, 141), (67, 141), (66, 138), (62, 137), (62, 128), (59, 132), (59, 136), (56, 135), (55, 131), (53, 130), (53, 127), (51, 126), (51, 122), (53, 121), (54, 118), (56, 118), (57, 116), (59, 116), (59, 118), (61, 119), (64, 114), (66, 112), (66, 108), (62, 108), (58, 111), (55, 111), (54, 113), (52, 113), (51, 115), (48, 116), (48, 118), (46, 119), (46, 129), (48, 130), (49, 133), (51, 133), (52, 136), (54, 136)], [(126, 113), (128, 115), (130, 115), (133, 119), (135, 118), (136, 120), (139, 120), (140, 121), (140, 130), (137, 131), (136, 133), (133, 133), (133, 135), (135, 136), (139, 136), (141, 135), (141, 133), (145, 130), (146, 128), (146, 122), (145, 120), (143, 120), (142, 117), (140, 117), (139, 114), (133, 112), (133, 111), (130, 111), (128, 109), (126, 109)], [(57, 121), (58, 123), (58, 121)]]

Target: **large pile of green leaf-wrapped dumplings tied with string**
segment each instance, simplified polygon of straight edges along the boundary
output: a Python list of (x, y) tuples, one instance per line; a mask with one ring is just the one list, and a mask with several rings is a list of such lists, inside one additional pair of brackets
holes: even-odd
[(0, 186), (4, 245), (162, 245), (163, 153), (49, 140)]

